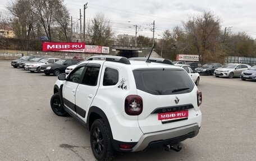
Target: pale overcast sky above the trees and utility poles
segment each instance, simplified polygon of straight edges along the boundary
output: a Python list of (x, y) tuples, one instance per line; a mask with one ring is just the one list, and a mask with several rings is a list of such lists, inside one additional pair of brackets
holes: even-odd
[[(0, 11), (4, 11), (10, 0), (0, 1)], [(79, 9), (83, 15), (83, 5), (88, 2), (86, 21), (92, 19), (95, 13), (102, 12), (111, 20), (112, 27), (118, 34), (135, 35), (135, 27), (141, 26), (138, 35), (153, 36), (150, 28), (153, 21), (156, 24), (156, 38), (161, 38), (163, 31), (172, 30), (173, 26), (181, 25), (181, 21), (189, 16), (202, 15), (211, 11), (221, 19), (222, 30), (228, 27), (232, 33), (245, 32), (256, 39), (256, 1), (253, 0), (64, 0), (70, 10), (73, 22), (79, 19)], [(83, 17), (82, 17), (83, 20)]]

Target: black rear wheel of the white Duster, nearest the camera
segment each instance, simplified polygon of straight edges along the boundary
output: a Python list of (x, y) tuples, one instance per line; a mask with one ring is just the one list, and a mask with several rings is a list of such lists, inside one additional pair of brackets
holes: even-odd
[(103, 122), (103, 119), (96, 119), (90, 129), (90, 145), (93, 155), (97, 160), (113, 160), (115, 155), (110, 142), (109, 130)]

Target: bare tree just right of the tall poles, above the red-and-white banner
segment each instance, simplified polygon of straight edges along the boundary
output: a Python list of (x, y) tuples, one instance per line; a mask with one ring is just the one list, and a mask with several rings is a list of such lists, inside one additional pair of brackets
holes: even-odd
[(93, 20), (88, 25), (88, 36), (93, 45), (111, 45), (113, 44), (113, 31), (111, 22), (103, 13), (96, 13)]

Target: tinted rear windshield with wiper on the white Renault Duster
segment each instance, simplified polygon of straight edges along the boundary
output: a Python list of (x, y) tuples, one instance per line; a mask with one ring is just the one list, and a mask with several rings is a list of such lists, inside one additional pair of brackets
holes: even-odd
[(153, 95), (189, 93), (194, 82), (184, 70), (134, 70), (136, 88)]

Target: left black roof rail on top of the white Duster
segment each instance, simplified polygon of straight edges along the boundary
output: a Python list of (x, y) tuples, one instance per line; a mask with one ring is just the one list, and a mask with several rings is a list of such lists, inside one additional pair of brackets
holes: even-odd
[(89, 57), (86, 60), (91, 61), (93, 59), (104, 59), (105, 61), (123, 63), (123, 64), (126, 64), (126, 65), (131, 64), (129, 59), (127, 59), (125, 57), (118, 57), (118, 56), (92, 56), (92, 57)]

